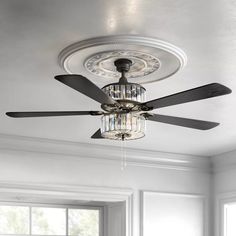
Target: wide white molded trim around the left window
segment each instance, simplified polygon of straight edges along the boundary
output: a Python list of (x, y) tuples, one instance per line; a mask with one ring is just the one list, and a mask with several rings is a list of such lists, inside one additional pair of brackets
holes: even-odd
[[(0, 182), (0, 202), (10, 199), (15, 202), (30, 202), (28, 199), (62, 199), (62, 200), (85, 200), (117, 202), (124, 201), (126, 208), (125, 215), (125, 236), (132, 236), (133, 233), (133, 190), (78, 186), (78, 185), (52, 185), (52, 184), (22, 184)], [(105, 214), (104, 214), (105, 217)], [(103, 219), (104, 228), (105, 219)], [(106, 230), (103, 232), (106, 235)]]

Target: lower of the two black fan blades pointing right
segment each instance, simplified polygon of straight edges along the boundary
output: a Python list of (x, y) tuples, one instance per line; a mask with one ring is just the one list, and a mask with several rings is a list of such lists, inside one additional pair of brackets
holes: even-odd
[(193, 120), (193, 119), (188, 119), (188, 118), (157, 115), (157, 114), (152, 114), (150, 116), (147, 116), (147, 119), (151, 121), (157, 121), (161, 123), (178, 125), (178, 126), (183, 126), (183, 127), (192, 128), (192, 129), (199, 129), (199, 130), (208, 130), (219, 125), (219, 123), (210, 122), (210, 121)]

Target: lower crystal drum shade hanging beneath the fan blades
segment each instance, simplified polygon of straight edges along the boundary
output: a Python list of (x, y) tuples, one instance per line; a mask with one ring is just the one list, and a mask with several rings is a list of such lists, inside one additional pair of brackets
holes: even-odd
[(102, 116), (101, 133), (104, 138), (117, 140), (139, 139), (145, 136), (145, 118), (133, 113)]

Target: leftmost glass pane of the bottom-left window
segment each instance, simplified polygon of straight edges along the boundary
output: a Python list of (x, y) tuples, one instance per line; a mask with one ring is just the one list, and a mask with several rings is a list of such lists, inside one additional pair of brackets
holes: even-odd
[(29, 208), (0, 206), (0, 234), (29, 234)]

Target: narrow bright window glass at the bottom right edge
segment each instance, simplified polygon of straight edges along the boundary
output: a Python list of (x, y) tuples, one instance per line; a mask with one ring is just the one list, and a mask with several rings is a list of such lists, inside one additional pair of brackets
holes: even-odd
[(226, 204), (224, 207), (224, 236), (236, 235), (236, 204)]

